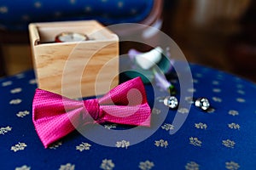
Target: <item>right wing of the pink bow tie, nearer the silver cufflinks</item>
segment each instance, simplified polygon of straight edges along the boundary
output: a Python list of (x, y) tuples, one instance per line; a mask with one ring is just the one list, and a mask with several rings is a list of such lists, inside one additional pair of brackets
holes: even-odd
[(99, 99), (98, 122), (150, 126), (151, 110), (140, 77), (124, 82)]

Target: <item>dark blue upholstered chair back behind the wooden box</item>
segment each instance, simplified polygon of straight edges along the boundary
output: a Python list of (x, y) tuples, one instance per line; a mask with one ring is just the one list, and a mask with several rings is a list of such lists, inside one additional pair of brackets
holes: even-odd
[(0, 0), (0, 26), (25, 30), (31, 22), (99, 20), (105, 25), (144, 20), (154, 0)]

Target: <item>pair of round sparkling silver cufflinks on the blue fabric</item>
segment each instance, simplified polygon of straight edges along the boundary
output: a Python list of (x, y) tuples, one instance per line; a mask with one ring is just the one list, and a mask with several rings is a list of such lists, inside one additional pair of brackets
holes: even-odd
[[(170, 107), (171, 109), (177, 108), (178, 101), (175, 96), (167, 96), (164, 99), (159, 99), (160, 102), (163, 102), (164, 105)], [(207, 98), (198, 98), (198, 99), (189, 99), (191, 103), (194, 103), (197, 108), (200, 108), (202, 111), (207, 111), (210, 108), (210, 102)]]

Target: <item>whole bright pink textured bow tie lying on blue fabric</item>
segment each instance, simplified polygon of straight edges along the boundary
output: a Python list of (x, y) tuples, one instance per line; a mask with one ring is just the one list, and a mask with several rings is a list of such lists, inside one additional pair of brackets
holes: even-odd
[[(32, 121), (44, 147), (93, 122), (150, 126), (150, 107), (140, 77), (113, 88), (101, 99), (73, 100), (37, 89)], [(91, 118), (92, 117), (92, 118)]]

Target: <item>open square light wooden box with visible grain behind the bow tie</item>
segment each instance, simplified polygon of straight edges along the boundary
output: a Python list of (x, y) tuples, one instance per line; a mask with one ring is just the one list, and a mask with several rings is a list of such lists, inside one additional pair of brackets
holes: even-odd
[[(83, 42), (55, 42), (62, 32)], [(68, 98), (105, 94), (119, 83), (119, 38), (96, 20), (29, 25), (33, 65), (42, 88)]]

